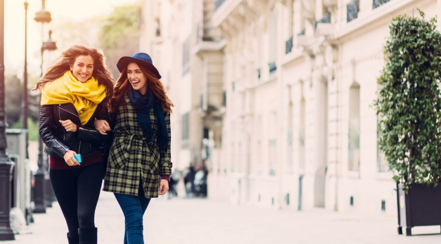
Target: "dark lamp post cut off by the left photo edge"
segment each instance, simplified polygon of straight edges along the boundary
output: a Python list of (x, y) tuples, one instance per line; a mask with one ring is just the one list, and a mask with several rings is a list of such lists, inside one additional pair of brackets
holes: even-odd
[(5, 1), (0, 0), (0, 241), (15, 240), (10, 227), (11, 179), (14, 163), (6, 154), (4, 28)]

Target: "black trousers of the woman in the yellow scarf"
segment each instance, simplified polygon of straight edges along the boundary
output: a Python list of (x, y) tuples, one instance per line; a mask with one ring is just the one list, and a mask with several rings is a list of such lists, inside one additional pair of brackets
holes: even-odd
[(50, 170), (50, 182), (61, 207), (70, 236), (78, 229), (95, 227), (95, 209), (101, 192), (104, 163), (72, 170)]

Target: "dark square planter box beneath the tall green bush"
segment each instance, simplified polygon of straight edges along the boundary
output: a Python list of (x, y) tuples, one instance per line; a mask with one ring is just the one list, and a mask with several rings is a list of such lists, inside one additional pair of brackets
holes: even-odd
[(406, 228), (406, 236), (411, 236), (412, 227), (441, 225), (441, 185), (412, 184), (409, 193), (397, 184), (398, 234)]

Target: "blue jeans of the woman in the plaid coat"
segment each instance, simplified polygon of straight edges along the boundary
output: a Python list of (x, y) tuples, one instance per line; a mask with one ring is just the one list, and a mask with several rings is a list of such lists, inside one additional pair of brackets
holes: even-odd
[(125, 218), (124, 244), (144, 244), (143, 215), (150, 199), (147, 199), (143, 190), (143, 183), (139, 184), (138, 196), (116, 194)]

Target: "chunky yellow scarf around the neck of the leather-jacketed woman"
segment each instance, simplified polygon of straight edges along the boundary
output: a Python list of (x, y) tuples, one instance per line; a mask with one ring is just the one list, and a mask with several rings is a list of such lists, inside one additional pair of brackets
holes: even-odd
[(90, 77), (85, 83), (78, 81), (68, 71), (55, 81), (48, 82), (41, 90), (41, 105), (72, 103), (81, 120), (88, 123), (96, 106), (105, 99), (105, 85)]

